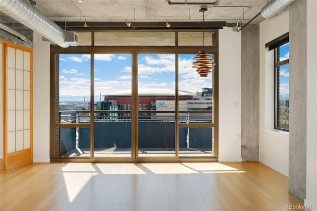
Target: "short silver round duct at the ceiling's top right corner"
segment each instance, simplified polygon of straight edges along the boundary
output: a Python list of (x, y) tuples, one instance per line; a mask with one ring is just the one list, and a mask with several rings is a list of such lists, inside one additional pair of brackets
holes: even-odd
[(294, 1), (296, 0), (271, 0), (262, 8), (261, 14), (265, 19), (275, 17)]

